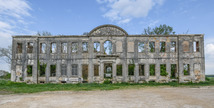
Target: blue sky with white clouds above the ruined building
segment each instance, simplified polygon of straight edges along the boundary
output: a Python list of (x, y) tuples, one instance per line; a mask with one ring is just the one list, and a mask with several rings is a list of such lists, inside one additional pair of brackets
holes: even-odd
[[(213, 0), (0, 0), (0, 45), (11, 35), (81, 35), (103, 24), (129, 34), (167, 24), (176, 34), (205, 34), (206, 74), (214, 74)], [(0, 60), (0, 69), (9, 70)]]

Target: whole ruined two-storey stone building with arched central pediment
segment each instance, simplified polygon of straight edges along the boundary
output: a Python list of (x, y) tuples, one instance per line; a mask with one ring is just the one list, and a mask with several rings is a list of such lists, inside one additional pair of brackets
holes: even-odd
[(32, 83), (198, 82), (204, 35), (129, 35), (102, 25), (87, 35), (13, 36), (11, 80)]

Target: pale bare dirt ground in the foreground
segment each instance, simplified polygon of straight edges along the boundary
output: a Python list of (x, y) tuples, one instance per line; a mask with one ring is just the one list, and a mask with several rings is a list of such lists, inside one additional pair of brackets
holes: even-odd
[(214, 87), (147, 87), (0, 95), (0, 108), (212, 108)]

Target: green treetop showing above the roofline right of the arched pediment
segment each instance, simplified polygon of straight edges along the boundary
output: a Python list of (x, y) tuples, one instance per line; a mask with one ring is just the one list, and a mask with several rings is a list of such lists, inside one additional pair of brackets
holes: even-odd
[(163, 24), (153, 29), (148, 27), (147, 29), (144, 29), (143, 34), (144, 35), (170, 35), (170, 34), (175, 34), (175, 32), (173, 31), (173, 27)]

